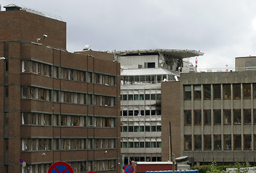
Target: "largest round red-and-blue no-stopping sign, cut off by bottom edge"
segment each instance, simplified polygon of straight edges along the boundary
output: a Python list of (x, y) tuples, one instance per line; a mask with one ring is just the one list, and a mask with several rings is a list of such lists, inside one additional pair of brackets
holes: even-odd
[(67, 162), (57, 161), (49, 167), (48, 173), (74, 173), (74, 171)]

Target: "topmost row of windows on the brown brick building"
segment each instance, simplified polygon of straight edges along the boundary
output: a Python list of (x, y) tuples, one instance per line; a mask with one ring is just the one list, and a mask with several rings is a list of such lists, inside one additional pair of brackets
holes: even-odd
[[(116, 76), (92, 73), (88, 71), (79, 71), (69, 68), (60, 68), (61, 74), (59, 74), (59, 67), (54, 66), (53, 74), (51, 73), (51, 66), (44, 63), (38, 63), (35, 61), (22, 61), (22, 73), (40, 74), (43, 76), (53, 76), (54, 78), (67, 79), (71, 81), (87, 81), (92, 83), (94, 76), (95, 84), (106, 84), (110, 86), (116, 86)], [(87, 74), (87, 76), (86, 76)]]

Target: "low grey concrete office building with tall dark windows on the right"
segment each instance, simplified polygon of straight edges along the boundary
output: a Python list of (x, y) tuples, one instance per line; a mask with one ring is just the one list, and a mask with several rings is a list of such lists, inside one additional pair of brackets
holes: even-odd
[(193, 157), (197, 164), (255, 164), (255, 62), (256, 57), (239, 57), (236, 71), (181, 74), (180, 82), (163, 82), (165, 94), (180, 86), (180, 92), (173, 93), (175, 100), (162, 97), (163, 116), (169, 113), (166, 120), (176, 123), (180, 134), (174, 138), (181, 141), (174, 147), (177, 154)]

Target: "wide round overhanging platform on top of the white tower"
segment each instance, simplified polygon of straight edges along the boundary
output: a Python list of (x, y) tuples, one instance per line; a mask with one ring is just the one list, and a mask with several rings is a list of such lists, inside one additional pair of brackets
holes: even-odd
[(142, 49), (142, 50), (119, 50), (113, 52), (115, 56), (143, 56), (166, 54), (175, 58), (189, 58), (202, 56), (200, 50), (181, 50), (181, 49)]

